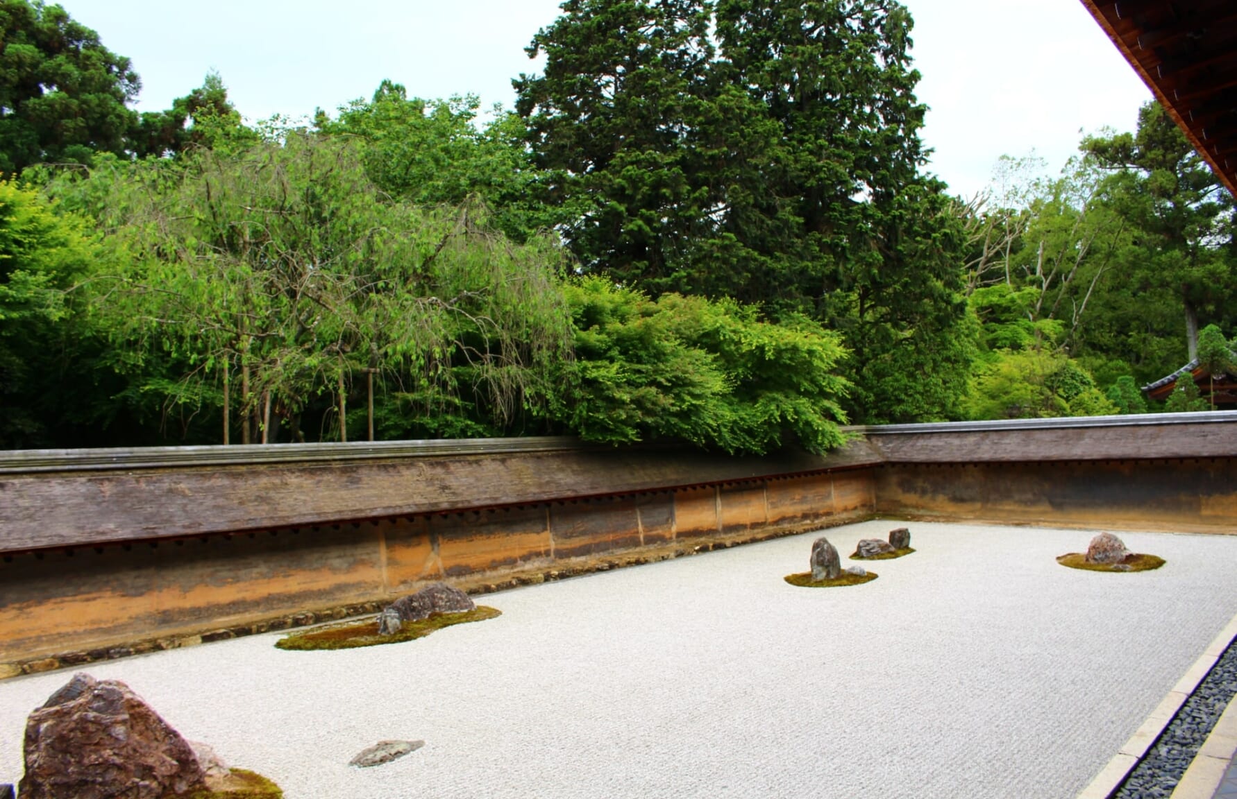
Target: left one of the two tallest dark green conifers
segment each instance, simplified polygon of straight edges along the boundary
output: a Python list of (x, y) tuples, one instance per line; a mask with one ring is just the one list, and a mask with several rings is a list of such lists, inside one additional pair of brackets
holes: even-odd
[(711, 103), (708, 5), (568, 0), (515, 80), (546, 193), (585, 268), (664, 291), (713, 202), (698, 156)]

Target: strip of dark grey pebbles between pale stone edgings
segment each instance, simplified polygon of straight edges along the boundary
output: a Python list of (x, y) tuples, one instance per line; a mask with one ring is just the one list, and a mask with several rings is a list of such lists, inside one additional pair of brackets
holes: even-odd
[(1233, 694), (1237, 694), (1237, 646), (1230, 643), (1155, 746), (1121, 783), (1116, 799), (1166, 799)]

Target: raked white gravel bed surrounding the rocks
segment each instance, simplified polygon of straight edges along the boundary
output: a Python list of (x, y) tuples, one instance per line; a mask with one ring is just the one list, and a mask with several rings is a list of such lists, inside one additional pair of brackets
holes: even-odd
[[(897, 522), (824, 532), (846, 555)], [(802, 589), (820, 533), (481, 597), (500, 618), (346, 652), (254, 636), (89, 667), (288, 799), (1069, 798), (1237, 613), (1237, 536), (909, 524), (873, 583)], [(868, 565), (868, 564), (865, 564)], [(0, 683), (0, 783), (69, 673)], [(375, 768), (382, 738), (424, 748)]]

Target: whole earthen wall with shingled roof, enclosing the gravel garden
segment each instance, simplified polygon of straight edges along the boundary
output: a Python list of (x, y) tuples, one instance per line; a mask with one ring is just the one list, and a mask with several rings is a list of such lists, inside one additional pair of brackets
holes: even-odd
[(882, 515), (1237, 532), (1237, 412), (860, 428), (826, 456), (563, 439), (0, 456), (0, 678)]

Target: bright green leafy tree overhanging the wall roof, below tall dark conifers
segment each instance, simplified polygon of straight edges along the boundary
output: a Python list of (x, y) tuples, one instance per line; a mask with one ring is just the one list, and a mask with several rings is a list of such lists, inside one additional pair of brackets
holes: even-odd
[(575, 359), (553, 413), (585, 440), (669, 438), (727, 453), (842, 443), (839, 336), (804, 318), (761, 322), (734, 301), (657, 301), (602, 278), (567, 286)]

